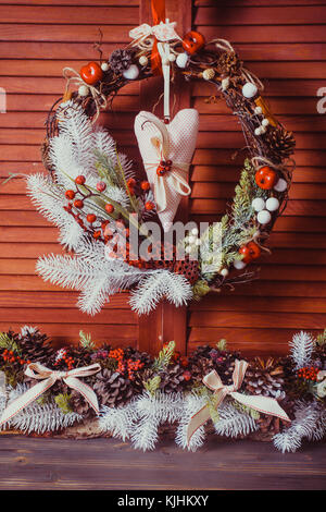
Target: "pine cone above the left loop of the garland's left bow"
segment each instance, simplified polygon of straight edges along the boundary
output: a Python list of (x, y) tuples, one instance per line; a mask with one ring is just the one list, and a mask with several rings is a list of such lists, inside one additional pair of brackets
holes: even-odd
[(22, 329), (21, 334), (14, 334), (25, 361), (49, 365), (55, 350), (48, 343), (47, 334), (41, 334), (38, 329)]

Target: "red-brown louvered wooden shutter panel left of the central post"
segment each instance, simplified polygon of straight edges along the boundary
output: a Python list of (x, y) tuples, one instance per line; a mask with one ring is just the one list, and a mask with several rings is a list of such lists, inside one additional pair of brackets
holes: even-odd
[[(42, 171), (40, 144), (51, 105), (62, 95), (62, 69), (76, 69), (99, 58), (93, 42), (103, 33), (103, 54), (128, 42), (139, 24), (138, 0), (0, 1), (0, 86), (7, 92), (7, 113), (0, 113), (0, 175)], [(139, 84), (114, 101), (114, 114), (103, 122), (126, 153), (135, 156), (133, 118), (139, 109)], [(77, 294), (45, 283), (35, 275), (39, 255), (55, 253), (58, 230), (35, 211), (25, 183), (15, 179), (0, 190), (0, 330), (37, 325), (58, 344), (78, 340), (79, 329), (95, 341), (134, 344), (138, 320), (126, 294), (112, 298), (90, 317), (76, 308)]]

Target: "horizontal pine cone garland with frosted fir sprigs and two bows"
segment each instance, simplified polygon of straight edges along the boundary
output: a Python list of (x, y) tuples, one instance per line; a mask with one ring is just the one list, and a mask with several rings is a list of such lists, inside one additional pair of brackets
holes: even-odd
[(226, 340), (188, 357), (170, 342), (154, 357), (96, 346), (80, 331), (78, 345), (57, 350), (25, 326), (0, 333), (0, 428), (113, 436), (141, 450), (164, 434), (193, 451), (217, 434), (296, 451), (326, 434), (326, 330), (316, 339), (301, 331), (289, 346), (288, 356), (247, 361)]

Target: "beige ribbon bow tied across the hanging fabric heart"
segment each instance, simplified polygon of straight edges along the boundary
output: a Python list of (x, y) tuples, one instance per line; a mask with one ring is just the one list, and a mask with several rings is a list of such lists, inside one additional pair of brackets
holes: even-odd
[(160, 136), (151, 138), (151, 144), (156, 148), (158, 161), (156, 162), (143, 162), (146, 171), (153, 172), (153, 185), (154, 185), (154, 198), (156, 204), (156, 210), (160, 214), (164, 211), (167, 206), (167, 191), (174, 188), (183, 196), (188, 196), (191, 193), (191, 188), (187, 182), (188, 170), (190, 163), (176, 162), (173, 160), (171, 171), (166, 171), (163, 176), (159, 176), (156, 173), (158, 166), (161, 160), (168, 159), (170, 144), (168, 144), (168, 132), (165, 124), (159, 120), (155, 115), (147, 112), (148, 121), (153, 123), (160, 131)]

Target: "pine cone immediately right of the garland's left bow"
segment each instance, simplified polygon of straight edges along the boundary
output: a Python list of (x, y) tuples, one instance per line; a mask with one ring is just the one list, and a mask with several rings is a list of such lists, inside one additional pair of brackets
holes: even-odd
[(103, 368), (96, 375), (93, 391), (101, 405), (118, 407), (137, 394), (137, 387), (118, 371)]

